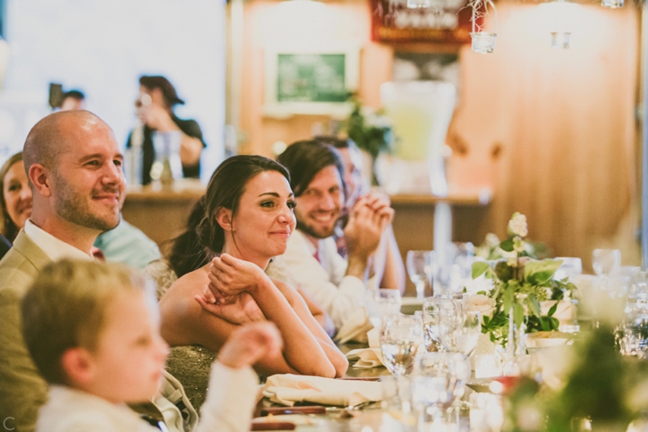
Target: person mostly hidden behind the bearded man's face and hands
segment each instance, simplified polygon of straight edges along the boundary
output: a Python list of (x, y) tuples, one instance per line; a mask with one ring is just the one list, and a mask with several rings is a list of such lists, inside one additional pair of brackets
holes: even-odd
[[(347, 184), (347, 200), (342, 215), (338, 220), (335, 238), (338, 244), (338, 253), (346, 258), (348, 251), (344, 228), (348, 220), (348, 211), (353, 208), (360, 197), (366, 197), (370, 200), (376, 197), (387, 203), (390, 200), (386, 194), (380, 191), (370, 190), (365, 192), (366, 188), (363, 187), (365, 180), (362, 173), (362, 154), (354, 141), (331, 136), (318, 136), (314, 137), (314, 139), (337, 148), (342, 157), (345, 170), (344, 180), (345, 184)], [(401, 293), (405, 292), (405, 266), (402, 262), (392, 224), (385, 228), (378, 250), (374, 255), (374, 272), (379, 287), (396, 288)]]

